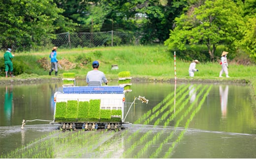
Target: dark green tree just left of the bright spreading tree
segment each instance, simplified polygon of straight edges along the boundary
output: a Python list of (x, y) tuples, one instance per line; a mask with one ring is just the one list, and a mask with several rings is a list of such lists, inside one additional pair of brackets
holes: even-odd
[(163, 43), (168, 39), (174, 18), (183, 13), (187, 7), (185, 0), (144, 0), (143, 7), (137, 8), (137, 13), (144, 15), (138, 29), (142, 33), (142, 43)]

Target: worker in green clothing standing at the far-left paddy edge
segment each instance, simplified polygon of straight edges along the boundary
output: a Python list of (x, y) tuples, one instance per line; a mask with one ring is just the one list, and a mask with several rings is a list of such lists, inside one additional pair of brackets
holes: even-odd
[(8, 71), (9, 71), (10, 77), (15, 77), (12, 74), (12, 71), (13, 71), (12, 58), (13, 57), (14, 57), (14, 55), (11, 54), (11, 49), (8, 48), (7, 51), (3, 55), (4, 65), (5, 65), (5, 77), (8, 77)]

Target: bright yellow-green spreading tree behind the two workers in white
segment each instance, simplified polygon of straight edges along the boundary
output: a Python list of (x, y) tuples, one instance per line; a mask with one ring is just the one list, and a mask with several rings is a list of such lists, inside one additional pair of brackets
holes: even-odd
[(197, 0), (186, 14), (175, 19), (175, 29), (170, 31), (165, 45), (186, 50), (187, 44), (192, 47), (205, 44), (210, 60), (214, 61), (218, 45), (232, 49), (241, 39), (239, 26), (243, 21), (240, 13), (241, 8), (232, 0)]

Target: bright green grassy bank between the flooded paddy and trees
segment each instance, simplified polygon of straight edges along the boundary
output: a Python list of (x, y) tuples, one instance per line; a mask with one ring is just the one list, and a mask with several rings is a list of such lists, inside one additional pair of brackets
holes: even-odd
[[(38, 60), (49, 59), (50, 50), (43, 52), (16, 53), (13, 63), (21, 63), (24, 66), (25, 74), (12, 78), (18, 80), (21, 78), (52, 78), (49, 76), (49, 66), (44, 69), (37, 63)], [(99, 69), (103, 71), (108, 80), (118, 79), (118, 72), (130, 71), (133, 79), (147, 81), (174, 81), (174, 53), (167, 50), (165, 46), (122, 46), (122, 47), (99, 47), (99, 48), (75, 48), (57, 50), (57, 59), (62, 67), (59, 68), (59, 75), (62, 78), (64, 72), (74, 72), (76, 78), (84, 79), (86, 73), (92, 69), (93, 61), (98, 60)], [(216, 51), (216, 55), (221, 55), (221, 50)], [(232, 54), (232, 53), (230, 53)], [(70, 63), (66, 63), (66, 62)], [(61, 63), (63, 62), (63, 63)], [(87, 64), (86, 64), (87, 63)], [(195, 72), (195, 77), (189, 77), (188, 68), (191, 62), (183, 61), (179, 58), (179, 52), (176, 52), (176, 74), (177, 82), (237, 82), (250, 83), (256, 88), (256, 65), (244, 66), (229, 63), (230, 78), (219, 78), (221, 65), (215, 63), (200, 63), (196, 65), (199, 70)], [(118, 70), (111, 70), (112, 64), (118, 64)], [(15, 69), (15, 67), (14, 67)], [(16, 68), (17, 69), (17, 68)], [(54, 74), (54, 73), (53, 73)], [(225, 74), (223, 74), (225, 76)], [(10, 80), (4, 77), (1, 72), (0, 80)], [(256, 94), (256, 89), (253, 92)]]

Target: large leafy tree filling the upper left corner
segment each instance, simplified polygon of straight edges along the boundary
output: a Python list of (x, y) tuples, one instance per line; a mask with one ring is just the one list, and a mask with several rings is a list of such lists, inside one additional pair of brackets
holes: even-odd
[(30, 50), (50, 43), (54, 31), (70, 30), (53, 0), (0, 0), (1, 48)]

